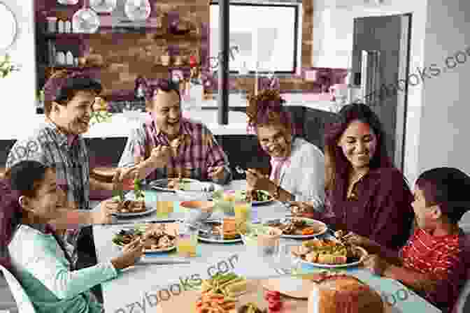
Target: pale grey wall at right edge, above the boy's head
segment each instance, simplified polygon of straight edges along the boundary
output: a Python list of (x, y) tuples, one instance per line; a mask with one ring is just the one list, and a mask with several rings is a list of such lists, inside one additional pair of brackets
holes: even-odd
[[(470, 1), (429, 0), (425, 63), (445, 67), (445, 59), (470, 47)], [(465, 14), (467, 13), (467, 18)], [(470, 49), (469, 49), (470, 52)], [(464, 61), (464, 57), (459, 57)], [(419, 169), (452, 166), (470, 173), (470, 56), (439, 77), (422, 94)]]

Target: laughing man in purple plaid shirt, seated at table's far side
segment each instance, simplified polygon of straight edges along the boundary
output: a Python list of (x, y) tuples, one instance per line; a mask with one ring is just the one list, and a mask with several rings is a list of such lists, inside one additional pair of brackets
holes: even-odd
[(119, 166), (138, 166), (141, 179), (191, 177), (228, 184), (227, 155), (204, 124), (182, 117), (178, 85), (157, 80), (146, 98), (148, 116), (131, 131)]

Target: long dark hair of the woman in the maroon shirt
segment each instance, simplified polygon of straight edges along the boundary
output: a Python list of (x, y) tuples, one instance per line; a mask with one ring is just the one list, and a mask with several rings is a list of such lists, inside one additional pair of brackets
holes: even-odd
[(357, 120), (369, 124), (377, 136), (377, 149), (369, 167), (373, 169), (393, 166), (387, 156), (385, 132), (376, 113), (362, 103), (345, 105), (338, 113), (338, 120), (327, 126), (327, 131), (325, 131), (325, 188), (329, 191), (334, 190), (335, 186), (344, 184), (348, 179), (351, 165), (341, 147), (338, 147), (338, 141), (350, 123)]

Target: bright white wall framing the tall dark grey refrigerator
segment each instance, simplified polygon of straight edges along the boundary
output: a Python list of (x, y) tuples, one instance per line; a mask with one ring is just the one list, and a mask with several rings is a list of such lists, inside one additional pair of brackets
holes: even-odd
[[(349, 2), (314, 0), (313, 66), (337, 68), (348, 66), (352, 51), (353, 20), (355, 17), (412, 13), (410, 72), (416, 73), (415, 68), (422, 68), (425, 64), (427, 1), (385, 0), (382, 5), (375, 6), (362, 4), (364, 3), (362, 0)], [(438, 26), (436, 25), (436, 27)], [(442, 57), (440, 58), (442, 59)], [(420, 144), (421, 105), (422, 85), (410, 87), (406, 117), (404, 174), (412, 184), (419, 174), (418, 147)]]

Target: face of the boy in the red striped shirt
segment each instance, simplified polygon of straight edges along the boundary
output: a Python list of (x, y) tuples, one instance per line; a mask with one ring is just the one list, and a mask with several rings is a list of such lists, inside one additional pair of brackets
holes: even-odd
[(424, 230), (433, 230), (441, 217), (439, 205), (427, 205), (425, 195), (419, 187), (413, 191), (415, 201), (411, 203), (415, 212), (415, 221)]

